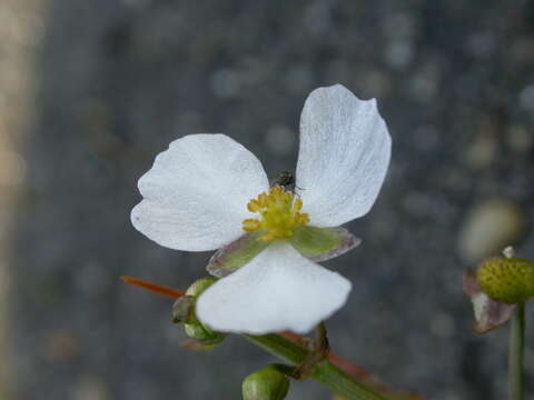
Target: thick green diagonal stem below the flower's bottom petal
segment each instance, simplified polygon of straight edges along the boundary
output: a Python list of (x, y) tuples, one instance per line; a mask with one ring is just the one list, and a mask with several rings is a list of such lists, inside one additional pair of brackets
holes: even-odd
[[(295, 366), (301, 364), (309, 356), (309, 350), (278, 334), (245, 334), (244, 337), (268, 352)], [(348, 374), (334, 367), (328, 359), (325, 359), (313, 368), (310, 371), (310, 378), (323, 383), (335, 393), (350, 400), (385, 400), (384, 397), (376, 393), (370, 388), (354, 380)]]

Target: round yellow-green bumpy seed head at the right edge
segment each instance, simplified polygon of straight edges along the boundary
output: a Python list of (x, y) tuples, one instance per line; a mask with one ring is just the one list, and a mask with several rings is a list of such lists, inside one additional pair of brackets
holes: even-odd
[(478, 268), (476, 279), (492, 299), (514, 304), (534, 297), (534, 264), (518, 258), (493, 257)]

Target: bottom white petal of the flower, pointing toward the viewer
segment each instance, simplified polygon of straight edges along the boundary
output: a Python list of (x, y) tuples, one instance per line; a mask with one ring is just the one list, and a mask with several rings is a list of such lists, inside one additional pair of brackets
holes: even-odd
[(207, 289), (197, 317), (221, 332), (305, 333), (338, 310), (349, 291), (347, 279), (280, 242)]

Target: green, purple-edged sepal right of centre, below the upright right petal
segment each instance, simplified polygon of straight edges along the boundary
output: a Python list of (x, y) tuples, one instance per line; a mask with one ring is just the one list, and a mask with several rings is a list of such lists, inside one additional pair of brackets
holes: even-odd
[(362, 240), (345, 228), (299, 227), (289, 242), (304, 257), (320, 262), (346, 253)]

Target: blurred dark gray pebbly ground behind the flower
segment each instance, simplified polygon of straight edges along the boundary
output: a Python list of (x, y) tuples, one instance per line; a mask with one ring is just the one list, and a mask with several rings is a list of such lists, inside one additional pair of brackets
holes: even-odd
[(428, 399), (505, 398), (507, 329), (469, 331), (462, 273), (534, 258), (534, 1), (2, 0), (0, 27), (2, 399), (239, 399), (270, 356), (184, 350), (171, 301), (119, 280), (184, 289), (210, 256), (134, 230), (137, 179), (195, 132), (293, 169), (305, 98), (337, 82), (394, 147), (363, 244), (327, 263), (354, 283), (334, 350)]

